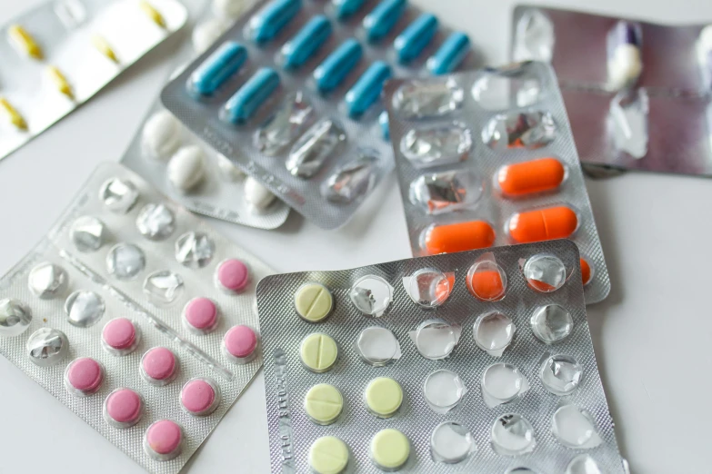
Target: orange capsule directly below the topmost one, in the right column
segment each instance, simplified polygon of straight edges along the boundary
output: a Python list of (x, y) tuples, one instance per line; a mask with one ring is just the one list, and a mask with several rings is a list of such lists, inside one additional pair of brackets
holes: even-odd
[(566, 239), (578, 228), (578, 216), (567, 206), (517, 212), (506, 223), (516, 243)]

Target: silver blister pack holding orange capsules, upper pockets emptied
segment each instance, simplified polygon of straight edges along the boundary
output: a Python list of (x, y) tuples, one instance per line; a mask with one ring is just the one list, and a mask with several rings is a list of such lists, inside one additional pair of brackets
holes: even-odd
[[(606, 262), (551, 66), (396, 79), (386, 85), (386, 105), (414, 255), (569, 238), (586, 261), (587, 303), (607, 297)], [(480, 265), (478, 298), (496, 300), (506, 278), (491, 262)]]

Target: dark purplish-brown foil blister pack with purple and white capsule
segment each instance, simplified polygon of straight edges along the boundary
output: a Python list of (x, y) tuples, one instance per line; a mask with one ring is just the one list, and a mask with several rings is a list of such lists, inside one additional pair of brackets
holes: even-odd
[(712, 25), (519, 5), (511, 53), (554, 66), (587, 169), (712, 176)]

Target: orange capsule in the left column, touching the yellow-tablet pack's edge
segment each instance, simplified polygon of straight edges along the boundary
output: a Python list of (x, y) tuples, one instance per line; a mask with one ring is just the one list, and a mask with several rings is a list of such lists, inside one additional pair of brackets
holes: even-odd
[(495, 230), (485, 221), (432, 225), (423, 235), (423, 248), (431, 255), (483, 249), (495, 243)]

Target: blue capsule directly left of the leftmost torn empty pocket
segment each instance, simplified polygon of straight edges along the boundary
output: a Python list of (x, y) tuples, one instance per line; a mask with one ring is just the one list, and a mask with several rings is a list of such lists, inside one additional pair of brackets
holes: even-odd
[(227, 99), (223, 114), (225, 120), (231, 123), (245, 122), (278, 86), (279, 74), (270, 67), (261, 68)]

